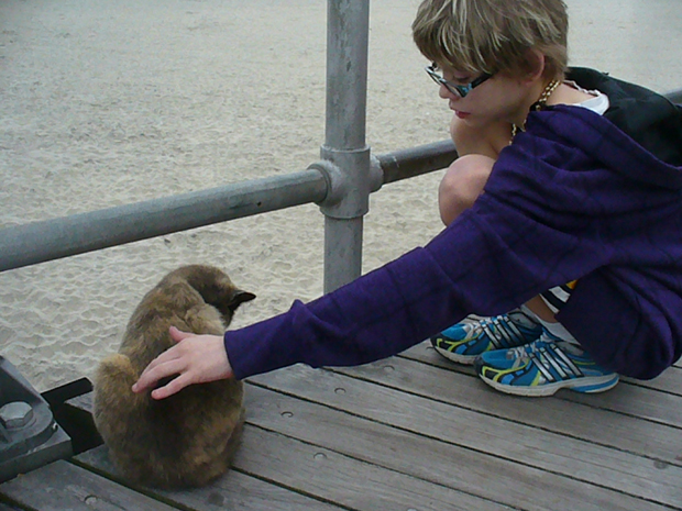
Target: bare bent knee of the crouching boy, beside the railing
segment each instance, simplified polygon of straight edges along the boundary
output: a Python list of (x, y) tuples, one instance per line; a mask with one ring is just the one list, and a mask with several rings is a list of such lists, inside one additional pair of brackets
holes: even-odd
[(495, 160), (480, 154), (455, 159), (438, 189), (440, 218), (446, 225), (471, 208), (487, 182)]

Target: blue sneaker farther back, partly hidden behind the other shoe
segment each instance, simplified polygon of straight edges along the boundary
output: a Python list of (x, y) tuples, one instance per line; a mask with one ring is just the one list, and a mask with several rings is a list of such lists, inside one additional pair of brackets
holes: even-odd
[(436, 351), (460, 364), (473, 364), (479, 355), (536, 341), (542, 333), (538, 321), (520, 309), (493, 318), (465, 320), (431, 337)]

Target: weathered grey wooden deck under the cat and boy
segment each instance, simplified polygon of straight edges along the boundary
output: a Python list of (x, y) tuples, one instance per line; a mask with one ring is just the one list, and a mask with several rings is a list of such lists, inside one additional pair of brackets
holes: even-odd
[(682, 509), (681, 429), (682, 368), (526, 399), (424, 343), (250, 379), (234, 468), (208, 488), (129, 488), (100, 446), (0, 486), (0, 511)]

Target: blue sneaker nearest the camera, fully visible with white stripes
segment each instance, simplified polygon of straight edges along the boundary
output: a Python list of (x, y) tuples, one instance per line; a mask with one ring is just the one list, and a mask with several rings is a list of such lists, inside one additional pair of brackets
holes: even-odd
[(474, 367), (487, 385), (517, 396), (551, 396), (564, 388), (604, 392), (618, 384), (616, 373), (598, 366), (580, 346), (547, 330), (526, 346), (483, 353)]

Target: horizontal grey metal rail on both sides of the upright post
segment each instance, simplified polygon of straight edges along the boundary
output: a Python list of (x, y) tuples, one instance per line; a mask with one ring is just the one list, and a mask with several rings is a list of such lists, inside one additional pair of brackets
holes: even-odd
[[(437, 170), (457, 157), (450, 141), (372, 158), (382, 184)], [(0, 230), (0, 271), (316, 202), (332, 208), (343, 178), (327, 162), (304, 171), (153, 199)]]

